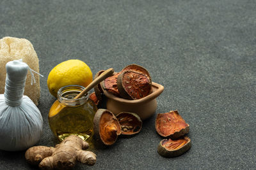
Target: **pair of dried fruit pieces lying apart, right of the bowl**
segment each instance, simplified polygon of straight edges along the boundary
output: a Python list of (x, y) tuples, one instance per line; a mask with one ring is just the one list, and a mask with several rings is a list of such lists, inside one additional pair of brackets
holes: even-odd
[(176, 157), (191, 148), (190, 139), (185, 136), (189, 132), (189, 124), (180, 117), (177, 110), (159, 113), (156, 117), (156, 131), (164, 138), (160, 141), (157, 152), (163, 157)]

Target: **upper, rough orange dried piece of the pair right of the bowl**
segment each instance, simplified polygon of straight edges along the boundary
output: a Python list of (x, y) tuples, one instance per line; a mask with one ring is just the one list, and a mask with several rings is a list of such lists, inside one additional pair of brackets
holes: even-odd
[(156, 117), (156, 131), (163, 137), (172, 139), (184, 136), (189, 132), (189, 124), (180, 117), (177, 110), (169, 113), (159, 113)]

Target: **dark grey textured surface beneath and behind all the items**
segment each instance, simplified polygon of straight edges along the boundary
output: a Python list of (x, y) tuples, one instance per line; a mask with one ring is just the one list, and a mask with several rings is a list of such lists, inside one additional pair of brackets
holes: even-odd
[[(44, 117), (39, 145), (52, 146), (47, 89), (52, 67), (81, 59), (93, 74), (131, 63), (164, 85), (156, 113), (179, 110), (192, 148), (165, 159), (156, 114), (134, 138), (97, 150), (76, 169), (255, 169), (256, 1), (0, 1), (0, 36), (26, 38), (40, 59)], [(0, 169), (33, 169), (24, 152), (0, 152)]]

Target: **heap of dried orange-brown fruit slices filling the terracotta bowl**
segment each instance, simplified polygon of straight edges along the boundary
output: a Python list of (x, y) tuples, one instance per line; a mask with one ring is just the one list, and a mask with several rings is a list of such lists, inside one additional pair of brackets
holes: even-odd
[[(94, 79), (103, 71), (100, 70), (95, 74)], [(136, 100), (152, 93), (152, 80), (147, 69), (131, 64), (124, 67), (119, 73), (114, 73), (113, 76), (106, 78), (94, 88), (95, 93), (91, 94), (90, 98), (95, 104), (99, 104), (99, 101), (102, 100), (102, 89), (124, 99)]]

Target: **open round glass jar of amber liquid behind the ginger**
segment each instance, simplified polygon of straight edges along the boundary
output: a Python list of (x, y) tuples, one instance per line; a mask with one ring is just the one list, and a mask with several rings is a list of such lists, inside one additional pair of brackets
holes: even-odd
[(95, 104), (86, 96), (74, 99), (84, 87), (68, 85), (58, 90), (56, 100), (49, 111), (48, 120), (52, 132), (61, 141), (75, 134), (84, 141), (93, 136)]

